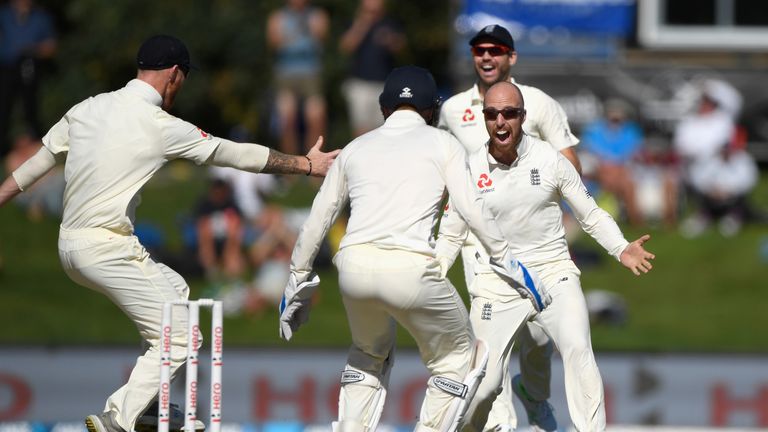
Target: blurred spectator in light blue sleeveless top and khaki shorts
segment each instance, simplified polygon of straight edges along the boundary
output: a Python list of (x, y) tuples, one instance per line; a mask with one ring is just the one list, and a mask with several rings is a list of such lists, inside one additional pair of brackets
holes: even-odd
[(309, 0), (286, 0), (285, 7), (269, 15), (267, 43), (275, 53), (273, 76), (284, 153), (300, 153), (299, 111), (303, 112), (305, 149), (325, 135), (322, 51), (328, 29), (328, 15), (309, 5)]

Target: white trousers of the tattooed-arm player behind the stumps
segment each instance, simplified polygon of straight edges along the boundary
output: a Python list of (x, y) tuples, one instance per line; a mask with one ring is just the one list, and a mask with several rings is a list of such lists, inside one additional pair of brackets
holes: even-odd
[[(114, 412), (124, 430), (132, 431), (158, 393), (163, 303), (187, 299), (189, 286), (178, 273), (153, 261), (138, 238), (106, 229), (62, 228), (59, 258), (74, 282), (112, 300), (136, 324), (149, 346), (136, 360), (128, 382), (107, 399), (104, 407), (105, 412)], [(187, 310), (174, 308), (172, 378), (185, 362), (186, 334)]]

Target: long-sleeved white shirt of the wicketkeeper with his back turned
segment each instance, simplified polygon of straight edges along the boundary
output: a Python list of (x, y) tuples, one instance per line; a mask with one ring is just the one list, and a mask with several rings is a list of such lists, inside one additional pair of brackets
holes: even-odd
[(503, 261), (508, 244), (471, 187), (464, 148), (418, 113), (396, 111), (334, 161), (299, 234), (291, 270), (304, 280), (347, 202), (351, 214), (340, 248), (368, 244), (434, 256), (433, 230), (446, 189), (491, 257)]

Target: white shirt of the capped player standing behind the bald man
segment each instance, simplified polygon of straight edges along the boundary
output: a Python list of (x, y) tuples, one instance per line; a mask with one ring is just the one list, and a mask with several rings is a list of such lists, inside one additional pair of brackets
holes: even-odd
[[(523, 94), (527, 111), (523, 122), (525, 133), (550, 143), (558, 151), (579, 143), (568, 126), (565, 110), (556, 100), (536, 87), (515, 83), (514, 78), (509, 81)], [(477, 84), (443, 103), (439, 127), (458, 138), (467, 152), (477, 150), (488, 141), (483, 118), (483, 98)]]

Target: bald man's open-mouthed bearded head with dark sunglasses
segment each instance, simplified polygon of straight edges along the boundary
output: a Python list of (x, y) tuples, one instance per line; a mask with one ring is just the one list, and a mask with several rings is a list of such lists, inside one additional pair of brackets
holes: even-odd
[(525, 121), (520, 89), (509, 82), (494, 84), (485, 94), (483, 115), (490, 136), (489, 152), (497, 161), (511, 165), (517, 159)]

